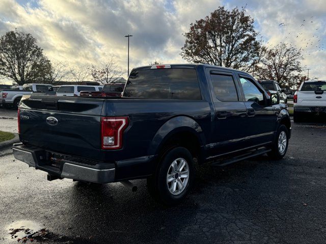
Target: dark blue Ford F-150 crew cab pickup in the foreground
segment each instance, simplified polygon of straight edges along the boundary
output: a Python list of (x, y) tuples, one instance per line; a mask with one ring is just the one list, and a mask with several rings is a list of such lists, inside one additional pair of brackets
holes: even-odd
[(168, 205), (191, 188), (194, 162), (281, 159), (291, 134), (278, 94), (248, 73), (202, 64), (135, 68), (121, 98), (24, 96), (18, 122), (15, 158), (49, 180), (147, 178)]

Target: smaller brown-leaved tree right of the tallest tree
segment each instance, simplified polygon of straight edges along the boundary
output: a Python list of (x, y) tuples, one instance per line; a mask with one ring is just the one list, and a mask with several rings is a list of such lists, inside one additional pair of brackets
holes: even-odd
[(260, 63), (255, 66), (255, 75), (260, 80), (275, 80), (283, 87), (296, 86), (297, 81), (305, 79), (301, 72), (304, 67), (301, 49), (280, 43), (267, 49)]

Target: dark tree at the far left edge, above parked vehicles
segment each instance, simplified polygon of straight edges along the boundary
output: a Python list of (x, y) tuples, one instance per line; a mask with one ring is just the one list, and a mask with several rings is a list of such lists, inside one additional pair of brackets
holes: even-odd
[(50, 70), (50, 60), (31, 34), (15, 29), (0, 37), (0, 75), (23, 85), (45, 81)]

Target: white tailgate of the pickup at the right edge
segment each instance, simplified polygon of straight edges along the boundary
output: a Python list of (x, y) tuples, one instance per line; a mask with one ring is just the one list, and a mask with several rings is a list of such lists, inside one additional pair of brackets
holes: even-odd
[(297, 92), (297, 106), (326, 106), (326, 94), (315, 94), (312, 91)]

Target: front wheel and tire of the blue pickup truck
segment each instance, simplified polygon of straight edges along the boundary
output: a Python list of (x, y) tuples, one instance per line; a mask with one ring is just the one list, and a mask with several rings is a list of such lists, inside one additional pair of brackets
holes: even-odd
[[(279, 143), (281, 143), (281, 145)], [(271, 147), (271, 151), (267, 153), (267, 155), (271, 159), (276, 159), (276, 160), (282, 159), (286, 154), (288, 145), (289, 145), (289, 132), (285, 125), (281, 125), (277, 130), (273, 145)]]

